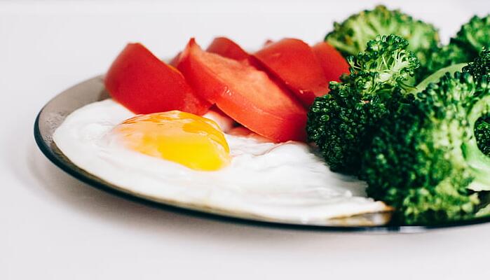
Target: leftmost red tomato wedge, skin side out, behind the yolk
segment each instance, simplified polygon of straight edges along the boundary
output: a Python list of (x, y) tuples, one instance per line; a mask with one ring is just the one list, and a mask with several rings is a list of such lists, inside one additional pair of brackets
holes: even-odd
[(134, 113), (179, 110), (203, 115), (211, 106), (194, 94), (182, 73), (140, 43), (130, 43), (104, 78), (113, 99)]

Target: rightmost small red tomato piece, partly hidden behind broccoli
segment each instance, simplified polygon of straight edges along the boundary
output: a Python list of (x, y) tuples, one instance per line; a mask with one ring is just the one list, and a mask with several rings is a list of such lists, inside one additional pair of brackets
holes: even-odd
[(346, 59), (329, 43), (317, 43), (313, 45), (312, 49), (323, 68), (327, 80), (339, 82), (339, 77), (343, 73), (349, 73), (349, 64)]

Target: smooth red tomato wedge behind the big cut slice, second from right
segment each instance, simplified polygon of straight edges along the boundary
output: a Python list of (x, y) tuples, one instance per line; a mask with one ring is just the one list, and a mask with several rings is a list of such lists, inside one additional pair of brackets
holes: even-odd
[(327, 94), (329, 80), (310, 46), (301, 40), (284, 38), (268, 43), (254, 53), (262, 66), (294, 92), (305, 106)]

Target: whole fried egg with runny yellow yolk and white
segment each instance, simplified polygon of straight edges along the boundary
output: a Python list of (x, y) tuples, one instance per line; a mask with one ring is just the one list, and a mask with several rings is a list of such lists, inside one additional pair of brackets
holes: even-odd
[(67, 116), (53, 140), (89, 174), (157, 202), (311, 224), (389, 210), (307, 144), (237, 132), (217, 113), (135, 116), (106, 99)]

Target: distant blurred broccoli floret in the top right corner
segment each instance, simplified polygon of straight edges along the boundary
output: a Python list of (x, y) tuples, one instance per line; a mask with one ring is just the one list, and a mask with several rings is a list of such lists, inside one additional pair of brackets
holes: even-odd
[(426, 73), (433, 73), (452, 64), (468, 63), (484, 47), (490, 48), (490, 15), (483, 18), (474, 16), (461, 26), (449, 45), (433, 48), (425, 65)]

